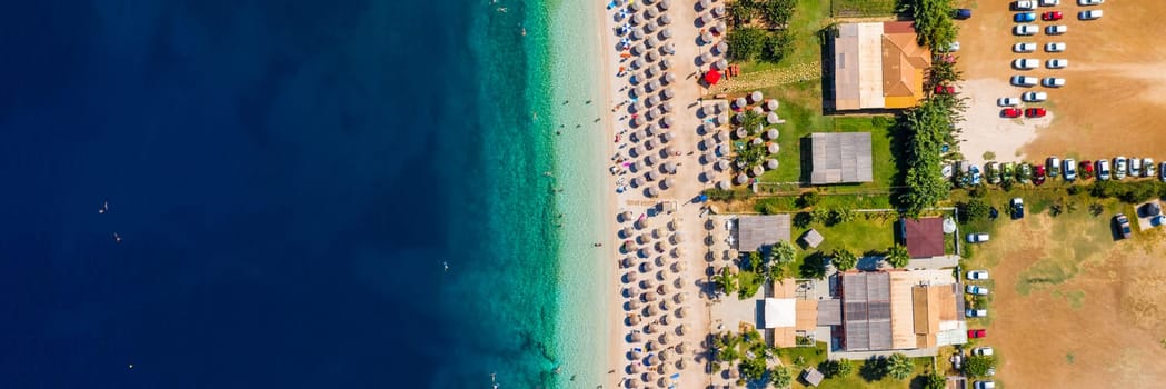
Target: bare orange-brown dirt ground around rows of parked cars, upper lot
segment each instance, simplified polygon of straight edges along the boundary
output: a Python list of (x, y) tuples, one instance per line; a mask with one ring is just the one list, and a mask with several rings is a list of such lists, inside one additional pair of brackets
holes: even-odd
[[(993, 151), (997, 158), (1011, 160), (1024, 154), (1027, 160), (1042, 160), (1047, 155), (1075, 156), (1079, 160), (1098, 157), (1150, 156), (1166, 157), (1166, 130), (1158, 123), (1166, 120), (1166, 45), (1160, 40), (1160, 15), (1166, 12), (1164, 1), (1107, 1), (1101, 7), (1104, 16), (1095, 21), (1077, 20), (1077, 12), (1087, 9), (1074, 0), (1062, 0), (1061, 6), (1038, 12), (1061, 10), (1065, 19), (1059, 22), (1041, 22), (1068, 26), (1068, 33), (1048, 36), (1041, 31), (1034, 36), (1012, 35), (1011, 1), (964, 0), (965, 7), (974, 9), (974, 16), (957, 22), (961, 26), (960, 64), (974, 96), (968, 112), (968, 123), (963, 126), (962, 144), (969, 160), (981, 160), (984, 151)], [(1012, 44), (1034, 42), (1037, 52), (1014, 54)], [(1065, 42), (1067, 49), (1060, 54), (1044, 52), (1044, 44)], [(1018, 71), (1011, 68), (1014, 58), (1068, 59), (1068, 68)], [(1012, 75), (1034, 77), (1061, 77), (1066, 86), (1061, 89), (1014, 87), (1007, 85)], [(989, 82), (990, 80), (990, 82)], [(988, 85), (988, 86), (985, 86)], [(1028, 90), (1047, 91), (1047, 107), (1052, 120), (1018, 120), (1016, 125), (998, 126), (1012, 120), (999, 118), (995, 107), (996, 98), (1019, 97)], [(984, 96), (986, 94), (986, 96)], [(1035, 106), (1035, 105), (1034, 105)], [(1018, 150), (1010, 148), (1028, 140)], [(991, 141), (1006, 134), (1010, 141)], [(977, 139), (978, 140), (972, 140)]]

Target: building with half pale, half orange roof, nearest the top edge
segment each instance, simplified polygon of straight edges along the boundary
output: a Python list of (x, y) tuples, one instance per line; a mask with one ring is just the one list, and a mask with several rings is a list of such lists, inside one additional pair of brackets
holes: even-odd
[(920, 47), (912, 22), (844, 23), (834, 49), (834, 108), (902, 109), (926, 94), (930, 51)]

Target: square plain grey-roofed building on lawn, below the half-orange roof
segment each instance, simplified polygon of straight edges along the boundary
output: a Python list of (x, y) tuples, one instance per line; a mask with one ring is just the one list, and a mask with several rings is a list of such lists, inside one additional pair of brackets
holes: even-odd
[(813, 133), (809, 142), (810, 184), (874, 181), (870, 133)]

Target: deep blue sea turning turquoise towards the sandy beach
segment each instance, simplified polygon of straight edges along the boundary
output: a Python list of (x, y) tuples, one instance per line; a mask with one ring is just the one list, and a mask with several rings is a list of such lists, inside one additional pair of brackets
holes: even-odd
[(598, 6), (8, 3), (0, 388), (597, 387)]

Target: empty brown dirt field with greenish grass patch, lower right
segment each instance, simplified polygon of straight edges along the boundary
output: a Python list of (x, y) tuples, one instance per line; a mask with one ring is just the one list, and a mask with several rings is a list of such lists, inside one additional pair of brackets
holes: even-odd
[[(995, 280), (988, 338), (1011, 388), (1158, 388), (1166, 379), (1166, 234), (1114, 241), (1108, 212), (1000, 221), (976, 253)], [(979, 346), (977, 345), (977, 346)]]

